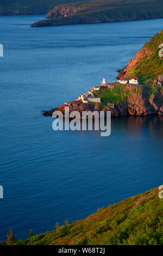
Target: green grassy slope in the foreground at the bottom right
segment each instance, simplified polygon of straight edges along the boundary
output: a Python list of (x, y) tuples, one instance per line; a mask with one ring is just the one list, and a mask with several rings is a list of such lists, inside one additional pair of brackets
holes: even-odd
[(163, 245), (158, 188), (98, 209), (87, 218), (19, 240), (17, 245)]

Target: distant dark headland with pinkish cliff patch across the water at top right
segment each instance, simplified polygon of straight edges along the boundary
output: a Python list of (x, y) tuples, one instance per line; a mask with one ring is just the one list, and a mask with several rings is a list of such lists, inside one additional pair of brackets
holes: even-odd
[(162, 0), (95, 0), (54, 6), (47, 15), (47, 18), (52, 19), (35, 22), (32, 27), (134, 21), (162, 17)]

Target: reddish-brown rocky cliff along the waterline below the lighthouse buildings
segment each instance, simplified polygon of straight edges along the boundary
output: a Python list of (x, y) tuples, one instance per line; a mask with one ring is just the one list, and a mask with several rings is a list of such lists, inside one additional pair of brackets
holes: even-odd
[(61, 111), (65, 114), (65, 107), (69, 107), (70, 113), (72, 111), (78, 111), (82, 115), (82, 111), (111, 111), (112, 117), (119, 117), (124, 115), (151, 115), (160, 114), (163, 115), (163, 90), (147, 89), (146, 87), (137, 87), (128, 85), (124, 90), (126, 101), (123, 103), (116, 103), (115, 108), (105, 107), (101, 109), (100, 106), (92, 105), (89, 103), (83, 103), (82, 101), (70, 101), (62, 104), (57, 109), (44, 112), (43, 115), (52, 115), (54, 111)]

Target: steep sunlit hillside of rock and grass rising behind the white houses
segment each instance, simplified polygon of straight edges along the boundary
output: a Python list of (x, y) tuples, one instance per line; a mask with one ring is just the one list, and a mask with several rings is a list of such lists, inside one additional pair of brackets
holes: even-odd
[(159, 34), (153, 36), (149, 42), (146, 42), (126, 67), (119, 70), (120, 74), (117, 78), (137, 75), (141, 82), (146, 82), (150, 85), (154, 82), (156, 86), (161, 86), (163, 84), (163, 76), (161, 76), (163, 74), (163, 57), (159, 56), (159, 45), (162, 43), (163, 29)]

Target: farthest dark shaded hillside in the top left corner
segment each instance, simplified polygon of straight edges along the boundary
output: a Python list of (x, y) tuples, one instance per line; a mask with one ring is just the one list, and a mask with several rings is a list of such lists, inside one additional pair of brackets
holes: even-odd
[(58, 4), (84, 1), (89, 0), (1, 0), (0, 15), (46, 14)]

